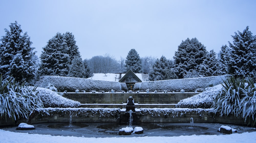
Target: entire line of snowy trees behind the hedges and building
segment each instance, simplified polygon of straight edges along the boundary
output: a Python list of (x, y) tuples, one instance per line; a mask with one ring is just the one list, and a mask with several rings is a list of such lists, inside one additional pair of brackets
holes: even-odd
[(93, 73), (149, 73), (150, 80), (168, 80), (233, 74), (256, 77), (256, 36), (249, 31), (235, 32), (232, 43), (217, 54), (208, 52), (197, 38), (182, 40), (173, 60), (140, 57), (131, 49), (126, 58), (116, 60), (110, 54), (82, 60), (72, 33), (56, 33), (42, 48), (39, 58), (27, 32), (15, 21), (0, 39), (0, 73), (19, 82), (33, 82), (45, 75), (88, 78)]

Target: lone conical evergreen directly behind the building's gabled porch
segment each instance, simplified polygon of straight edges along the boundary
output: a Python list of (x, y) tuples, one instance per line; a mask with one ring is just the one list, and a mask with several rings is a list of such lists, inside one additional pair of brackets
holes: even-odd
[(142, 61), (140, 55), (137, 53), (135, 49), (131, 49), (128, 52), (125, 60), (125, 68), (126, 71), (132, 70), (134, 73), (142, 72)]

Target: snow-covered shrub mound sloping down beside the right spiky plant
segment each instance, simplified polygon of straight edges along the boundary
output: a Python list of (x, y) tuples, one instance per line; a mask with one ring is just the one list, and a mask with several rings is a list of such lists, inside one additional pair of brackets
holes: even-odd
[(220, 94), (221, 84), (206, 88), (206, 91), (178, 102), (174, 108), (211, 108), (214, 99)]

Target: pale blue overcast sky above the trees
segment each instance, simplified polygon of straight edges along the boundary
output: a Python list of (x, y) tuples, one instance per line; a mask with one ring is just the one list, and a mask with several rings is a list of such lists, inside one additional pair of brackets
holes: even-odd
[(0, 6), (0, 36), (17, 21), (38, 56), (50, 38), (67, 31), (82, 59), (109, 53), (117, 60), (131, 49), (141, 57), (173, 59), (182, 40), (194, 37), (218, 53), (246, 26), (256, 35), (254, 0), (1, 0)]

